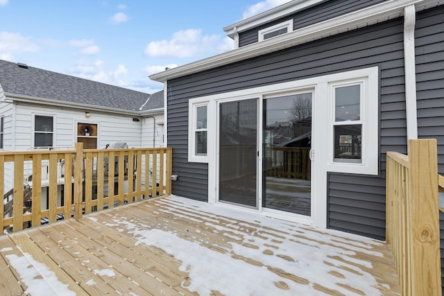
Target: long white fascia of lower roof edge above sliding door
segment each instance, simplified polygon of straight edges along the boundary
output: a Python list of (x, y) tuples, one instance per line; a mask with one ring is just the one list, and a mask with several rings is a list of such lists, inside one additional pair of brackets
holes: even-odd
[(169, 79), (198, 73), (208, 69), (232, 64), (255, 56), (280, 51), (282, 49), (329, 37), (339, 33), (363, 28), (381, 21), (400, 17), (404, 14), (404, 7), (415, 5), (416, 11), (444, 4), (443, 0), (389, 0), (370, 6), (346, 15), (322, 21), (291, 33), (273, 37), (262, 42), (256, 42), (238, 49), (214, 55), (197, 62), (191, 62), (180, 67), (162, 71), (149, 76), (151, 80), (165, 82)]

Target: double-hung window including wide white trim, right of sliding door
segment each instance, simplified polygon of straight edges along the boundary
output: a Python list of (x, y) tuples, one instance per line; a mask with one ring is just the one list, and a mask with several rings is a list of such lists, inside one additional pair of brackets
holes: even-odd
[(378, 70), (368, 68), (341, 75), (341, 80), (328, 83), (327, 170), (377, 175)]

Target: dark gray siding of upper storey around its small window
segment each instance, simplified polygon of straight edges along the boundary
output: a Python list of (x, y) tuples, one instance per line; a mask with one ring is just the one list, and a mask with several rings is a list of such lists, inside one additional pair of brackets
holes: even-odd
[(259, 30), (268, 28), (275, 24), (280, 24), (283, 21), (288, 21), (289, 19), (293, 19), (293, 30), (297, 30), (298, 28), (310, 26), (320, 21), (332, 19), (334, 17), (338, 17), (339, 15), (345, 15), (346, 13), (366, 8), (368, 6), (373, 6), (384, 1), (385, 0), (325, 1), (321, 4), (318, 4), (317, 6), (313, 6), (311, 8), (307, 8), (306, 10), (296, 12), (293, 15), (288, 15), (287, 17), (283, 17), (282, 19), (277, 19), (268, 24), (239, 33), (239, 47), (257, 42), (257, 33)]

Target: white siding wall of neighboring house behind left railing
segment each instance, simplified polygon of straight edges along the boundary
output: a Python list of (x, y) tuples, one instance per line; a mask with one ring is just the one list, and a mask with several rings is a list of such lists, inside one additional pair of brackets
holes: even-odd
[[(53, 116), (54, 133), (53, 146), (58, 149), (73, 149), (77, 142), (78, 123), (97, 125), (97, 148), (105, 148), (107, 144), (125, 142), (130, 148), (153, 147), (153, 124), (142, 119), (133, 121), (133, 116), (107, 114), (89, 110), (89, 118), (85, 112), (79, 110), (62, 110), (60, 107), (43, 107), (37, 105), (24, 105), (0, 103), (0, 112), (5, 120), (5, 151), (30, 150), (33, 145), (34, 125), (33, 116)], [(163, 114), (155, 115), (157, 122), (163, 122)], [(160, 126), (157, 126), (160, 128)], [(156, 147), (160, 147), (159, 130), (156, 130)], [(5, 166), (5, 192), (13, 187), (13, 166)], [(144, 175), (142, 176), (144, 180)]]

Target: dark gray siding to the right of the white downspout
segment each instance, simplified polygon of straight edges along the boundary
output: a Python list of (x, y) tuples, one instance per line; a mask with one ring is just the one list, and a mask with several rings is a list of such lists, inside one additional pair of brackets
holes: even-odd
[(438, 173), (444, 175), (444, 7), (418, 13), (416, 80), (418, 137), (438, 141)]

